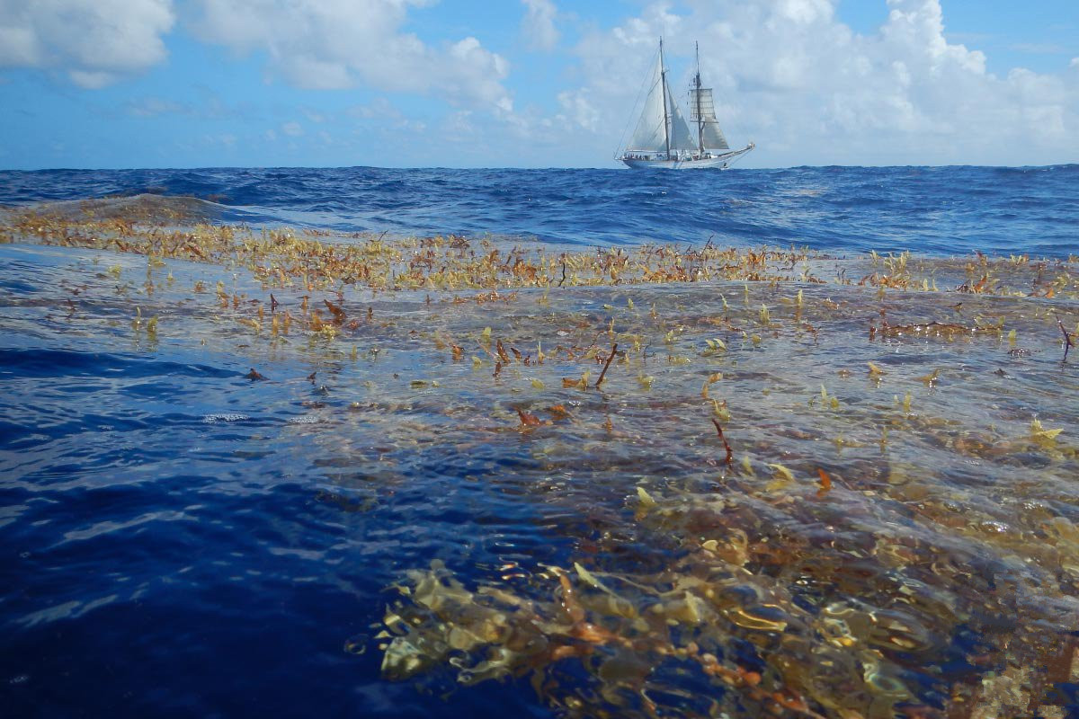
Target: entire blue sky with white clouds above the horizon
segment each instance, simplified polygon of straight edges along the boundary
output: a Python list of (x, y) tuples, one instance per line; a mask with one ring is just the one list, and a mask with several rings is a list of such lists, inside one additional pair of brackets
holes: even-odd
[(615, 167), (660, 36), (745, 167), (1079, 162), (1077, 0), (0, 0), (0, 168)]

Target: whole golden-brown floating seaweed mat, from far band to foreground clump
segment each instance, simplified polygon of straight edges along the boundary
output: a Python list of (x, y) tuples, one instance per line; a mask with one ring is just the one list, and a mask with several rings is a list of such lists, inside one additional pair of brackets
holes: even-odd
[[(137, 299), (124, 331), (203, 323), (252, 358), (377, 383), (311, 407), (339, 423), (323, 451), (341, 461), (383, 461), (340, 448), (354, 421), (418, 454), (514, 454), (484, 480), (511, 482), (569, 549), (405, 572), (375, 639), (390, 679), (520, 680), (574, 717), (1079, 704), (1071, 262), (551, 252), (49, 212), (5, 233), (146, 255), (87, 278)], [(176, 259), (208, 278), (175, 287)]]

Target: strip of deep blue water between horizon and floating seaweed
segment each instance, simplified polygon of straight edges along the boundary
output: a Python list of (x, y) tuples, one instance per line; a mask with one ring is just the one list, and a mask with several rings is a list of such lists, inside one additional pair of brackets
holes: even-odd
[(135, 169), (0, 172), (0, 205), (136, 193), (226, 220), (522, 235), (579, 245), (714, 241), (835, 252), (1079, 251), (1079, 165), (615, 169)]

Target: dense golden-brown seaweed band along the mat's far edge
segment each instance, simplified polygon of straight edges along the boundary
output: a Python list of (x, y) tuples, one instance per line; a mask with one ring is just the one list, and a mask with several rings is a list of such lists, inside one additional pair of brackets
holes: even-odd
[(582, 252), (455, 235), (387, 238), (386, 233), (252, 229), (214, 223), (213, 217), (214, 207), (205, 203), (146, 195), (41, 204), (4, 210), (0, 240), (238, 263), (267, 284), (309, 290), (339, 285), (493, 290), (746, 280), (859, 286), (879, 293), (951, 290), (960, 296), (1079, 296), (1069, 263), (1026, 255), (991, 259), (979, 253), (964, 260), (929, 260), (910, 253), (872, 253), (841, 261), (796, 248), (723, 248), (711, 241), (704, 247), (645, 245)]

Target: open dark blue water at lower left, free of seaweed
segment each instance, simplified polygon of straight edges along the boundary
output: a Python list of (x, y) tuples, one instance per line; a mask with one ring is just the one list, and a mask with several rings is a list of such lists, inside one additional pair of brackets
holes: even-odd
[[(397, 447), (383, 423), (398, 411), (343, 363), (252, 356), (165, 290), (139, 303), (172, 336), (147, 344), (115, 284), (95, 281), (100, 257), (0, 245), (0, 716), (447, 711), (380, 680), (370, 625), (385, 587), (436, 556), (555, 556), (537, 526), (558, 517), (501, 496), (521, 482), (504, 471), (517, 442), (457, 452), (447, 431), (439, 452)], [(185, 288), (203, 276), (172, 272)], [(54, 314), (62, 296), (74, 316)], [(409, 376), (388, 361), (360, 367)], [(271, 381), (246, 379), (250, 364)], [(547, 716), (501, 685), (467, 711)]]

